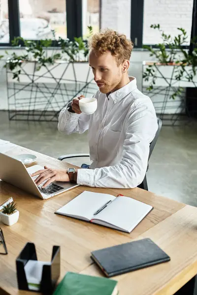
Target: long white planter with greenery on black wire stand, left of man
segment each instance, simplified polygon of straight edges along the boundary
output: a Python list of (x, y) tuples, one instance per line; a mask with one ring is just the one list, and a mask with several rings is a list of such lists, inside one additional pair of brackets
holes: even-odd
[(82, 90), (92, 91), (88, 42), (82, 37), (39, 41), (18, 37), (12, 45), (14, 52), (6, 52), (5, 64), (10, 120), (57, 120), (69, 99)]

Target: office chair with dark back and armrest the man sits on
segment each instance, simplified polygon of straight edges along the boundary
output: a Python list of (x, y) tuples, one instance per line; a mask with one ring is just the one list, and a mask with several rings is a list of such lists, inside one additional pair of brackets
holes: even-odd
[[(158, 122), (158, 129), (157, 129), (157, 132), (155, 134), (154, 140), (150, 143), (150, 151), (149, 151), (148, 161), (149, 161), (150, 156), (151, 156), (151, 154), (153, 152), (153, 149), (155, 148), (156, 142), (158, 140), (158, 137), (160, 135), (160, 131), (161, 131), (161, 128), (162, 128), (162, 120), (160, 118), (157, 118), (157, 122)], [(81, 153), (80, 154), (68, 154), (68, 155), (60, 156), (58, 158), (58, 160), (62, 161), (64, 159), (69, 159), (69, 158), (89, 157), (89, 156), (90, 156), (90, 154), (81, 154)], [(89, 165), (86, 165), (86, 164), (81, 165), (81, 168), (88, 168), (88, 167), (89, 167)], [(149, 164), (147, 166), (146, 172), (148, 171), (148, 168), (149, 168)], [(148, 190), (148, 184), (147, 184), (146, 175), (145, 175), (144, 180), (142, 181), (142, 183), (139, 184), (137, 187)]]

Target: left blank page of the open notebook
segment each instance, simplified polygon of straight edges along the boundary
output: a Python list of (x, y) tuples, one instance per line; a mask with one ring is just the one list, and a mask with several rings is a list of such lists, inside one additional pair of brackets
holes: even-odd
[(100, 207), (114, 199), (116, 197), (112, 195), (84, 191), (65, 206), (58, 209), (56, 213), (72, 217), (85, 217), (91, 220), (94, 213)]

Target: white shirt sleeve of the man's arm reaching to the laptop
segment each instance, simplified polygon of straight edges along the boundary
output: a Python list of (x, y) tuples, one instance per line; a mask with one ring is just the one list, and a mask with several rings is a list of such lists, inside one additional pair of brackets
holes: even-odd
[(96, 169), (79, 169), (77, 183), (111, 188), (134, 188), (146, 174), (150, 143), (158, 129), (155, 112), (146, 106), (128, 116), (123, 156), (120, 164)]

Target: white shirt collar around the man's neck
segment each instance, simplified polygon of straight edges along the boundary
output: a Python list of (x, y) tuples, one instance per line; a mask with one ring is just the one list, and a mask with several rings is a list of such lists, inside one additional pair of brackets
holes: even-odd
[(136, 78), (129, 76), (130, 82), (125, 85), (124, 87), (106, 94), (106, 97), (112, 98), (114, 103), (117, 103), (119, 100), (121, 100), (122, 98), (124, 98), (127, 94), (129, 94), (131, 91), (135, 90), (137, 88), (137, 83), (136, 83)]

